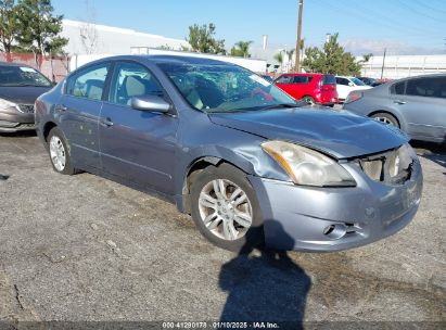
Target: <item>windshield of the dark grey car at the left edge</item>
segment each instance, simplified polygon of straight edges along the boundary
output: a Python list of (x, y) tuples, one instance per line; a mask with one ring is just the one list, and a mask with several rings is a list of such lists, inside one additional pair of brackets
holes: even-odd
[(0, 87), (50, 87), (41, 73), (29, 66), (0, 66)]

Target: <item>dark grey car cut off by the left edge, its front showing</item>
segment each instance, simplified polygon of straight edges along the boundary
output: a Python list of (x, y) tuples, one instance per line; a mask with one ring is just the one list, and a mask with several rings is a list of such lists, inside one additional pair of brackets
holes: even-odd
[(51, 81), (30, 66), (0, 62), (0, 132), (35, 129), (34, 102), (51, 87)]

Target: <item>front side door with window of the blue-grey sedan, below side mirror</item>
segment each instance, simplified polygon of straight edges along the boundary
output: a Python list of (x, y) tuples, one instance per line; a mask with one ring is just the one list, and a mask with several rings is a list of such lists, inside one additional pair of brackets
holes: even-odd
[(164, 96), (152, 73), (136, 62), (117, 62), (99, 125), (103, 168), (173, 194), (178, 118), (130, 106), (132, 97), (146, 94)]

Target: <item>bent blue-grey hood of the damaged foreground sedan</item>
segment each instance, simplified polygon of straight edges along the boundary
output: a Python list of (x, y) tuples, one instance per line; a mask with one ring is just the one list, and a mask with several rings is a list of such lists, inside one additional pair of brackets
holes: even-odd
[(209, 114), (214, 124), (266, 139), (288, 140), (348, 158), (397, 148), (407, 142), (398, 130), (346, 111), (294, 107)]

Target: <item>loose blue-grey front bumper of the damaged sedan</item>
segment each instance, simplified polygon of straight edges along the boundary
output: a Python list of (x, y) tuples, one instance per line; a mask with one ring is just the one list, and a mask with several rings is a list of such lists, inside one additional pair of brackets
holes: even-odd
[(392, 185), (343, 164), (357, 187), (314, 188), (250, 176), (264, 217), (266, 244), (280, 250), (340, 251), (365, 245), (403, 229), (421, 200), (418, 160), (410, 177)]

